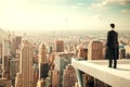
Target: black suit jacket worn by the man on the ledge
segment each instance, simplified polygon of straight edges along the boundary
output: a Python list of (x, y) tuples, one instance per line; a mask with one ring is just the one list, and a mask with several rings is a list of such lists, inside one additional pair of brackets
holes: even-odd
[(118, 33), (115, 30), (109, 30), (107, 34), (107, 44), (108, 48), (118, 48)]

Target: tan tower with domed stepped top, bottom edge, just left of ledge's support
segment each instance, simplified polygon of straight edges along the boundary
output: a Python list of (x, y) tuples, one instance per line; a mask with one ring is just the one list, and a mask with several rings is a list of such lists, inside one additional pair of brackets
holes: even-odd
[(76, 82), (76, 71), (73, 65), (68, 64), (63, 73), (63, 87), (73, 87)]

